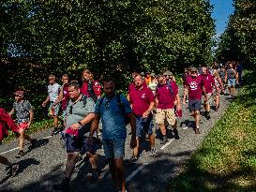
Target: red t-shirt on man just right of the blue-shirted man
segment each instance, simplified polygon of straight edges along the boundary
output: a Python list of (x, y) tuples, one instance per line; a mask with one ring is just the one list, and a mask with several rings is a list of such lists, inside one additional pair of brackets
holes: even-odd
[(135, 87), (130, 90), (129, 102), (132, 104), (134, 114), (143, 116), (143, 112), (148, 110), (150, 103), (154, 102), (154, 96), (152, 91), (146, 85), (143, 85), (143, 89)]

